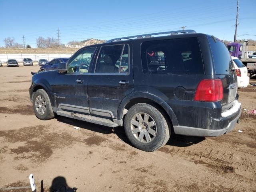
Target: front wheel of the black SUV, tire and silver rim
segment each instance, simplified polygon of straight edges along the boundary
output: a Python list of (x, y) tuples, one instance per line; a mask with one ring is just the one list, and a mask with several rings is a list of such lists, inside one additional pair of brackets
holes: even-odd
[(32, 104), (34, 113), (38, 119), (49, 120), (56, 116), (56, 114), (52, 110), (50, 98), (45, 90), (38, 89), (33, 94)]

